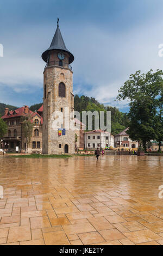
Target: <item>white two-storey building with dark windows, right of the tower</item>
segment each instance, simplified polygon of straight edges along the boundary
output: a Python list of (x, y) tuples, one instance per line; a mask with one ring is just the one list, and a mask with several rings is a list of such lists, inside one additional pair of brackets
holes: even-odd
[(112, 146), (114, 148), (114, 135), (110, 132), (102, 130), (94, 130), (84, 133), (85, 136), (85, 148), (96, 149)]

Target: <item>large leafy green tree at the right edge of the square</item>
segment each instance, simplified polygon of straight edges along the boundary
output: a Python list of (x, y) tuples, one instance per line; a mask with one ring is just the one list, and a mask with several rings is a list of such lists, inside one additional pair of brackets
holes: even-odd
[(129, 137), (133, 141), (141, 141), (146, 150), (147, 142), (155, 139), (158, 133), (155, 117), (162, 101), (163, 72), (151, 69), (147, 74), (140, 73), (139, 70), (130, 75), (118, 90), (117, 100), (129, 101)]

